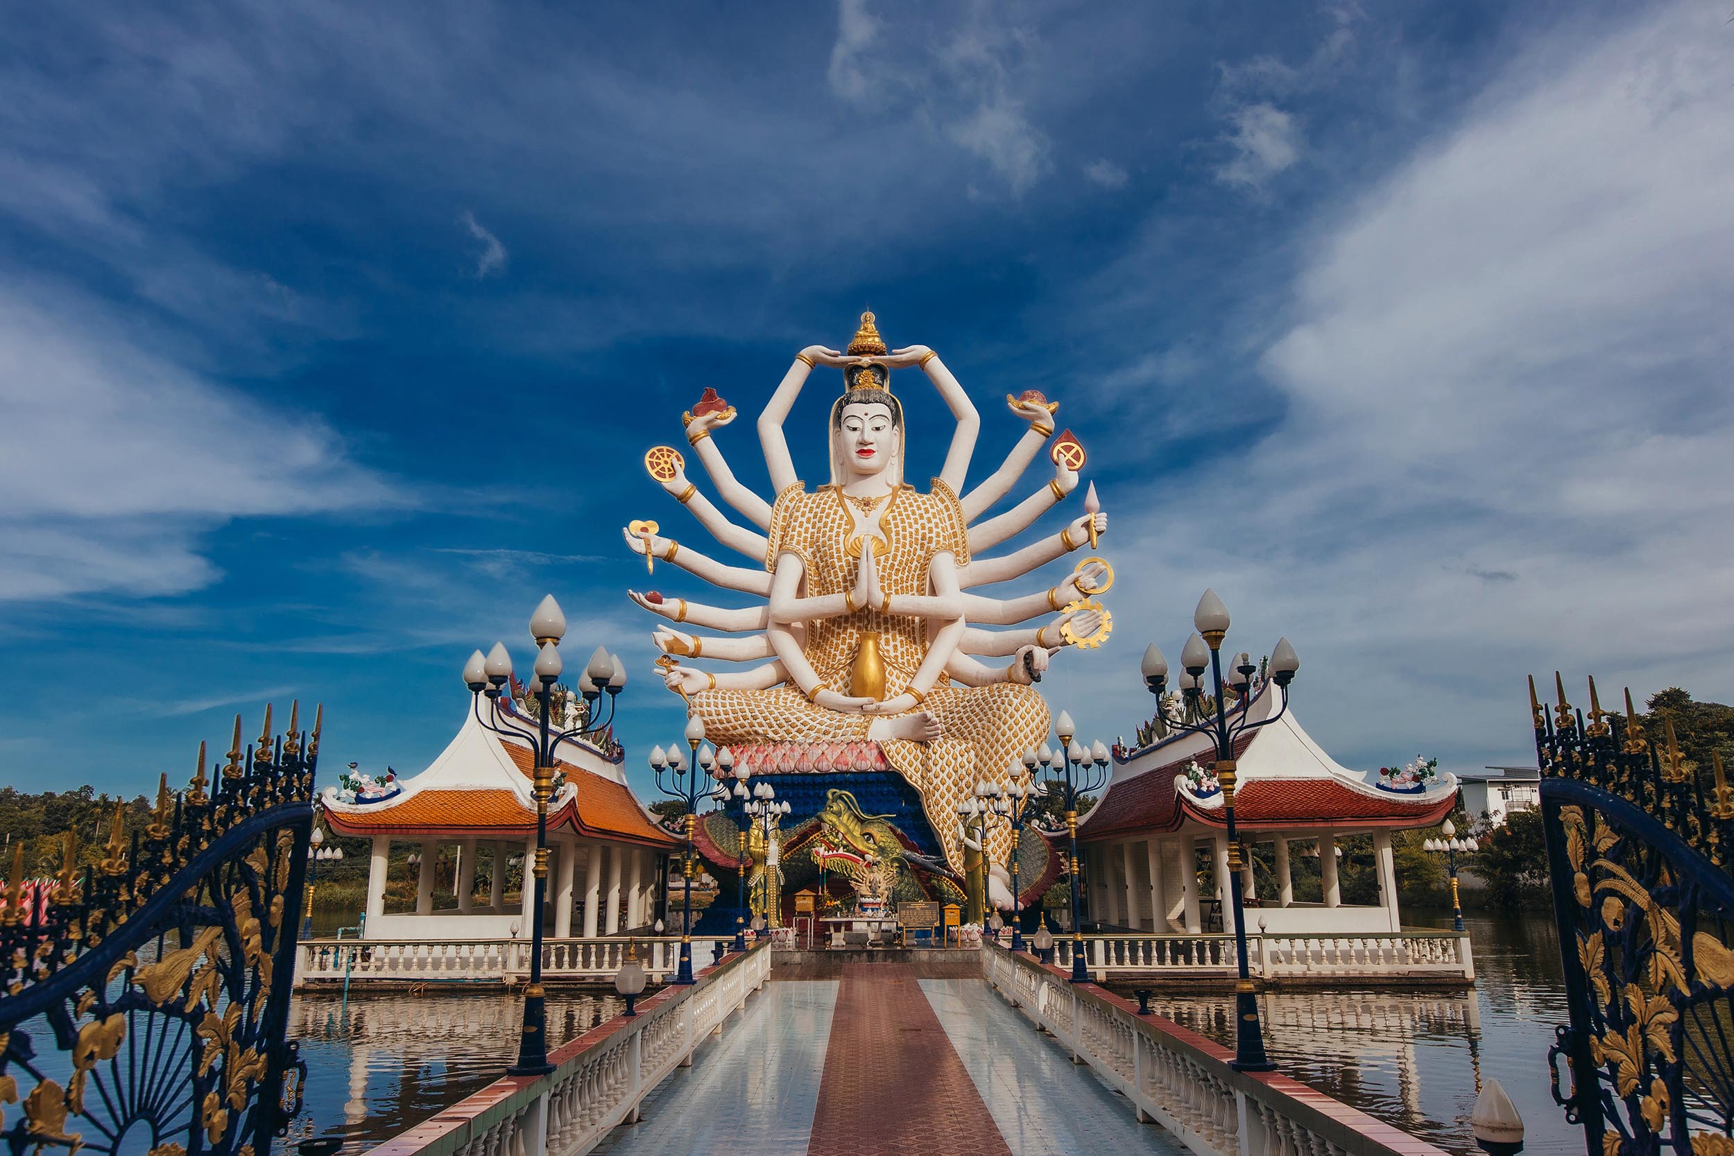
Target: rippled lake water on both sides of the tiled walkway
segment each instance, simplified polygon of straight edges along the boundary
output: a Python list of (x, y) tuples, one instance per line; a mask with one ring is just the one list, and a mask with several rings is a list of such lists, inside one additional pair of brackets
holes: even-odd
[[(1420, 927), (1450, 915), (1417, 912)], [(1552, 919), (1470, 917), (1477, 986), (1408, 993), (1292, 991), (1262, 997), (1266, 1047), (1281, 1071), (1453, 1153), (1479, 1153), (1469, 1114), (1479, 1083), (1505, 1085), (1528, 1125), (1524, 1151), (1581, 1153), (1548, 1094), (1547, 1049), (1566, 1023)], [(1200, 1035), (1233, 1045), (1233, 997), (1157, 997)], [(612, 995), (548, 997), (558, 1045), (610, 1019)], [(290, 1033), (307, 1057), (307, 1113), (293, 1139), (340, 1132), (362, 1151), (496, 1080), (517, 1054), (520, 1000), (505, 993), (295, 997)], [(293, 1151), (284, 1146), (284, 1151)]]

